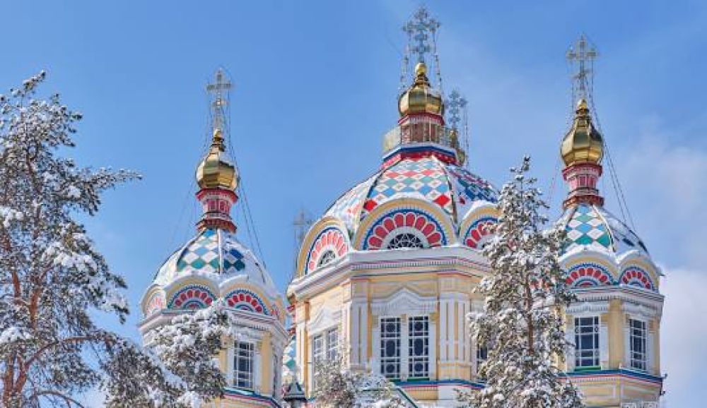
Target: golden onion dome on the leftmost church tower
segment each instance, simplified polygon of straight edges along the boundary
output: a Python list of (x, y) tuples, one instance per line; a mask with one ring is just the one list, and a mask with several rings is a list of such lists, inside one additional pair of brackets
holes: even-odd
[(197, 167), (197, 184), (201, 188), (228, 188), (235, 190), (238, 187), (238, 169), (226, 154), (226, 145), (223, 143), (221, 129), (214, 130), (214, 139), (211, 148), (204, 160)]

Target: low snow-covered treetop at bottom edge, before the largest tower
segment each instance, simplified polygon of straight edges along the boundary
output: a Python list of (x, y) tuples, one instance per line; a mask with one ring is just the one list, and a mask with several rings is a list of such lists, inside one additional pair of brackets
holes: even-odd
[(345, 359), (318, 361), (314, 368), (315, 404), (327, 408), (404, 408), (387, 378), (351, 371)]

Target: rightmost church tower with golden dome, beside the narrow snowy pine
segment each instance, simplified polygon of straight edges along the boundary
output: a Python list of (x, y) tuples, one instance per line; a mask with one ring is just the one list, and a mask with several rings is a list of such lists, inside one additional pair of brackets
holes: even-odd
[(604, 208), (599, 191), (607, 147), (592, 117), (597, 56), (585, 37), (568, 53), (576, 108), (562, 140), (568, 246), (561, 264), (578, 300), (566, 311), (566, 371), (588, 407), (657, 408), (662, 393), (660, 268), (624, 220)]

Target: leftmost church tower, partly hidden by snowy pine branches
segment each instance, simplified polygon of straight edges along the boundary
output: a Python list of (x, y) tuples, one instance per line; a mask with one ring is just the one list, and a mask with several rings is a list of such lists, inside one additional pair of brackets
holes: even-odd
[(211, 145), (196, 172), (203, 213), (197, 234), (167, 258), (145, 292), (139, 328), (149, 345), (154, 328), (222, 299), (239, 337), (230, 339), (218, 356), (228, 383), (218, 406), (279, 407), (286, 310), (264, 265), (238, 241), (230, 217), (240, 176), (226, 149), (230, 83), (225, 73), (216, 71), (216, 81), (206, 89), (211, 94)]

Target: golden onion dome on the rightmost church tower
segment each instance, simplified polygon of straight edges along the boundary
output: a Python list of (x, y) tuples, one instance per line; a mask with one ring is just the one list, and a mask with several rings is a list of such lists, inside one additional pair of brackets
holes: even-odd
[(572, 128), (562, 140), (560, 152), (565, 166), (580, 163), (599, 164), (602, 161), (604, 140), (592, 125), (592, 116), (584, 99), (577, 103)]

